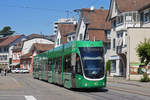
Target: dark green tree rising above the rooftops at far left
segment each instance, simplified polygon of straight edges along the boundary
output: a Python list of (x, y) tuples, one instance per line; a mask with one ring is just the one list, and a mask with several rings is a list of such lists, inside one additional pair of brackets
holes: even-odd
[(12, 35), (13, 33), (15, 33), (15, 31), (12, 31), (10, 26), (5, 26), (5, 27), (0, 31), (0, 35), (2, 35), (3, 37)]

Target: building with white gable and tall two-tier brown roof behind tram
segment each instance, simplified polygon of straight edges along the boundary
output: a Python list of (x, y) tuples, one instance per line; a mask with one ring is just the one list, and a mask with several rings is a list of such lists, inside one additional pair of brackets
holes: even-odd
[(110, 23), (106, 22), (108, 10), (104, 8), (80, 10), (80, 18), (76, 29), (76, 40), (103, 41), (105, 47), (105, 62), (110, 53)]

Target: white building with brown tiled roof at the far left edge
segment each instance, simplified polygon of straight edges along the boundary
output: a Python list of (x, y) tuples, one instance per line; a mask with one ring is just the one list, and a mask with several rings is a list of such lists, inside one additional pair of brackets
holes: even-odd
[(20, 42), (24, 35), (12, 35), (0, 38), (0, 68), (10, 69), (12, 64), (12, 49), (15, 43)]

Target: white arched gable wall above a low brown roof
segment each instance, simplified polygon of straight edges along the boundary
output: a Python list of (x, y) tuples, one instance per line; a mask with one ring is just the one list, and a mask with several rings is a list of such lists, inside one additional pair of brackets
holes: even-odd
[(53, 44), (52, 41), (43, 38), (34, 38), (24, 41), (22, 55), (27, 54), (34, 43)]

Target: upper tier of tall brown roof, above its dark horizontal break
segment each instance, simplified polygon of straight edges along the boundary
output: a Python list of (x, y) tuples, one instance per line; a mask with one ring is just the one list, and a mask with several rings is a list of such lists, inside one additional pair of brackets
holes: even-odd
[(94, 29), (110, 29), (110, 22), (106, 22), (108, 10), (94, 9), (91, 11), (89, 8), (83, 8), (81, 15), (89, 22), (88, 28)]

